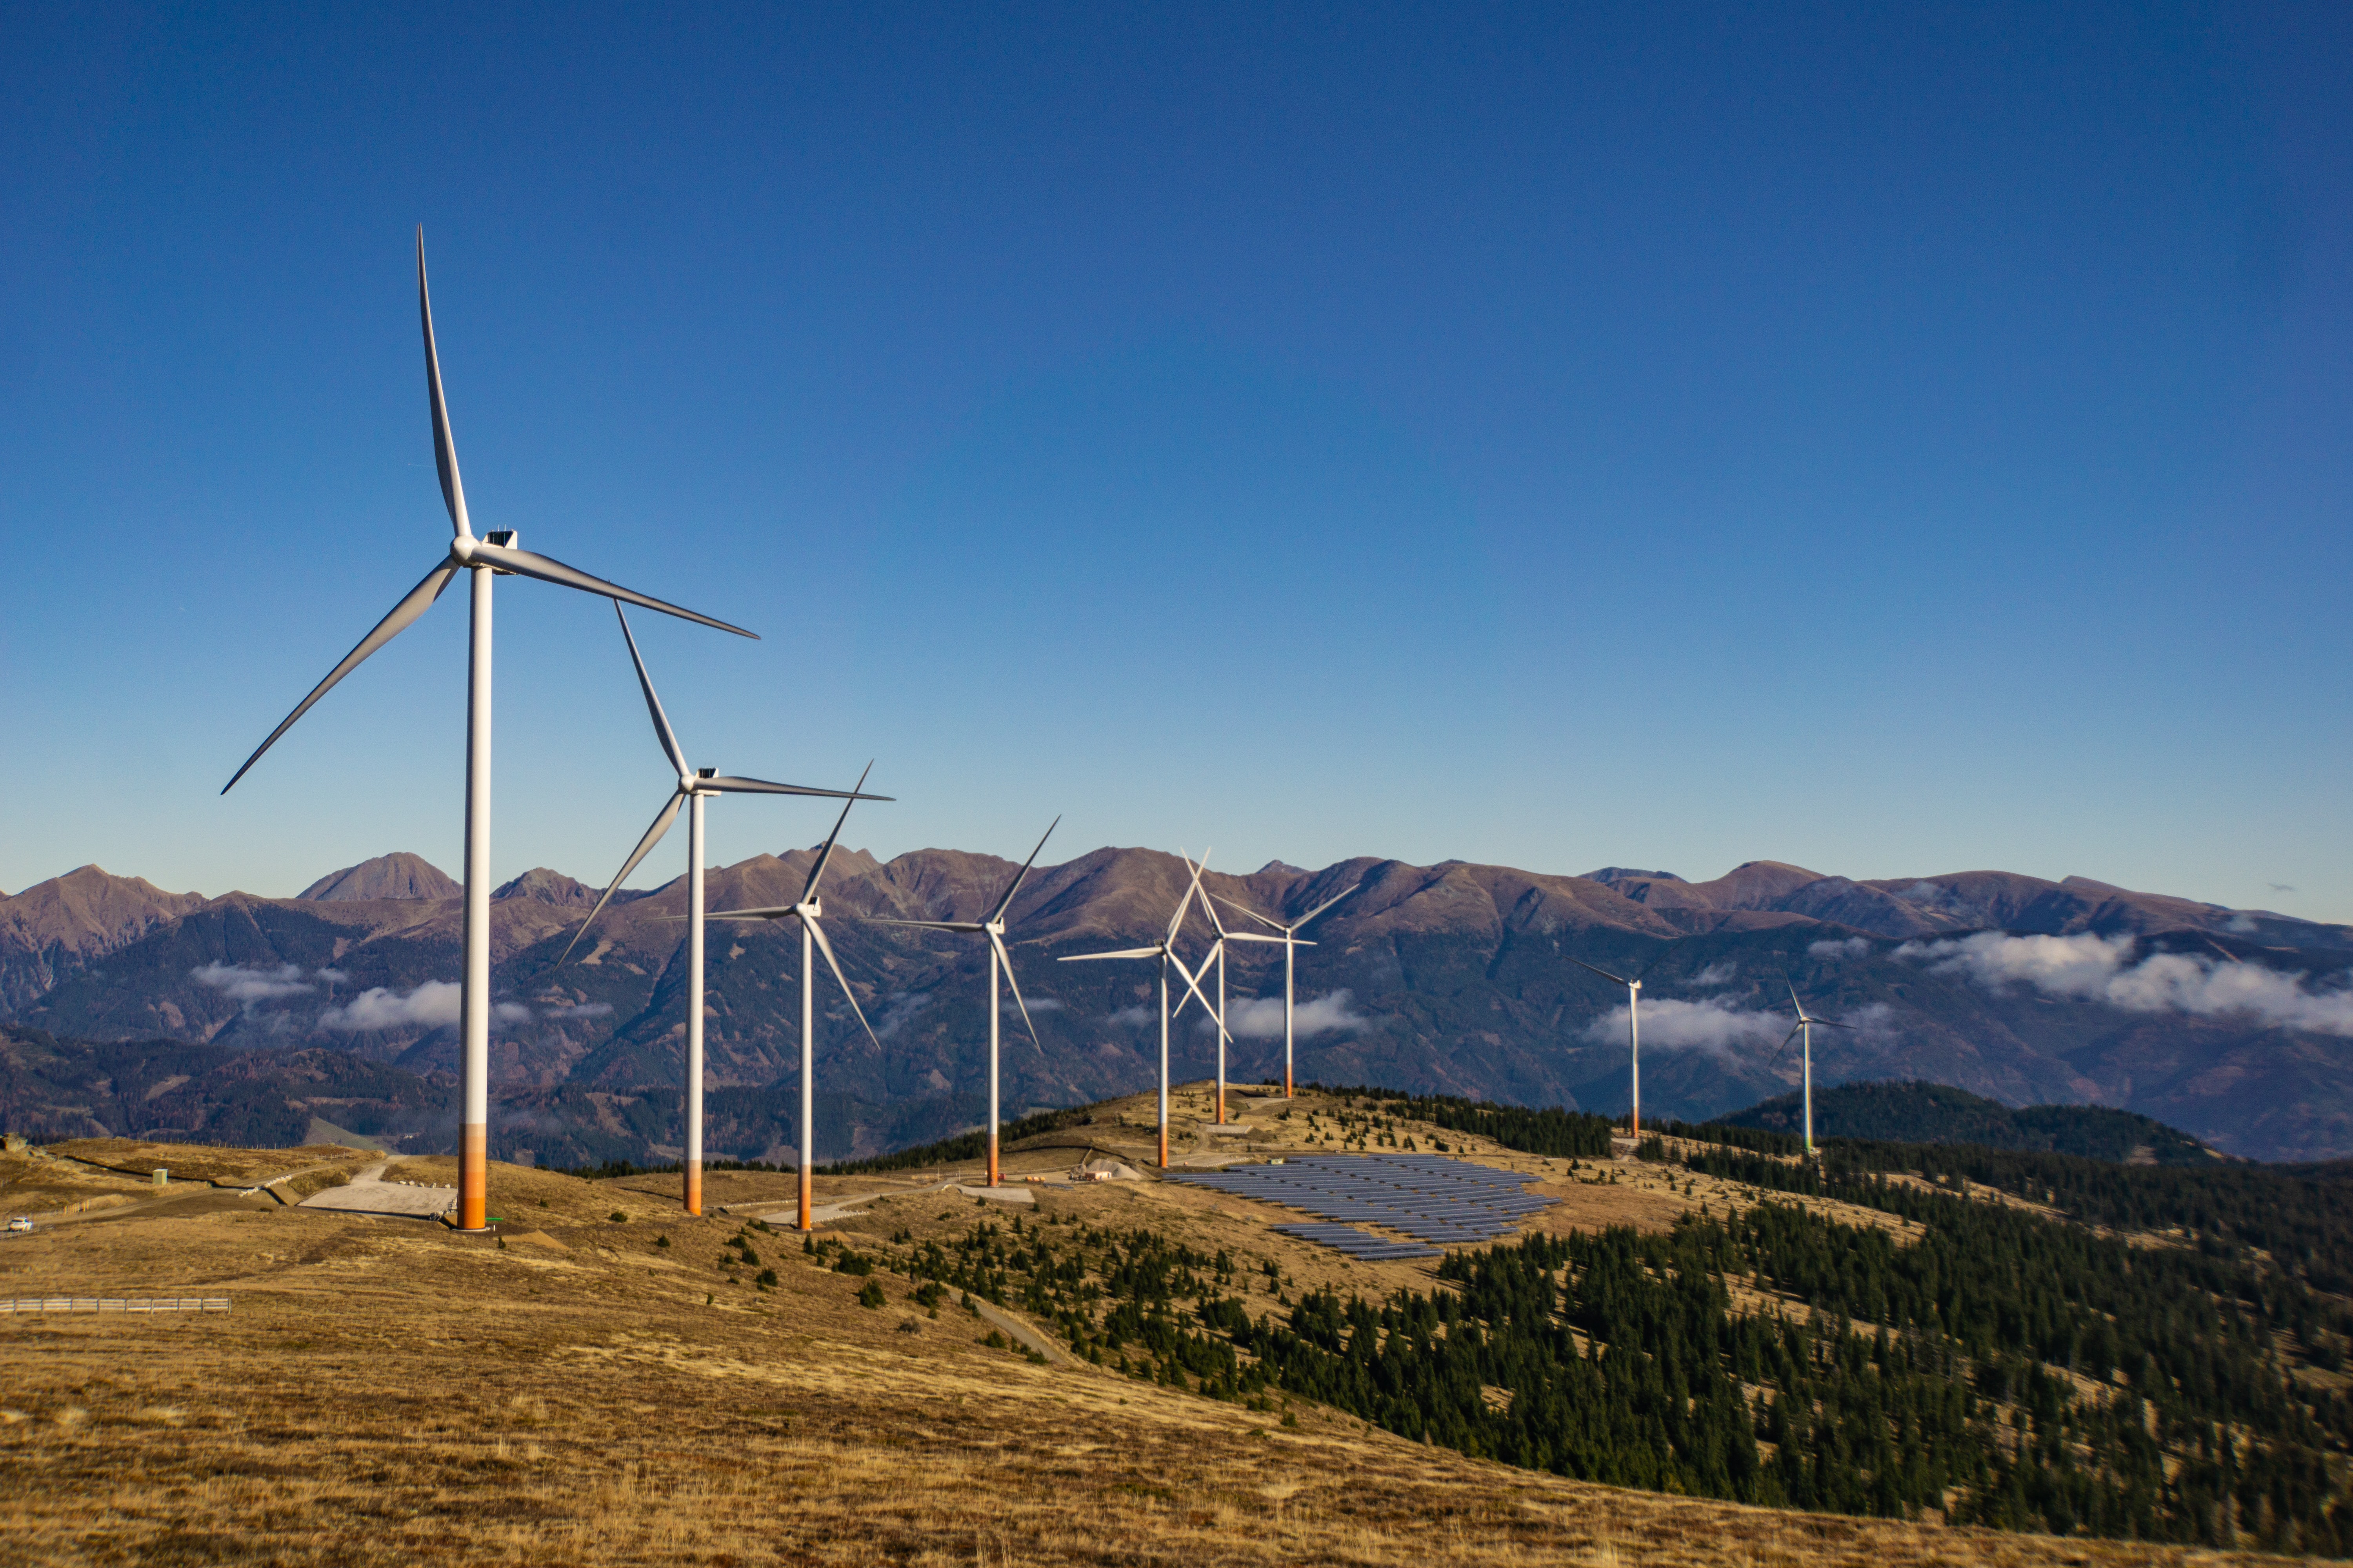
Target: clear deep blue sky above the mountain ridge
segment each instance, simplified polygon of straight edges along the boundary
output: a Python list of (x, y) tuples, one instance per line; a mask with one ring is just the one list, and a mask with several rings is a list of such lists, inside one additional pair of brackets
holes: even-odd
[[(0, 14), (0, 889), (459, 867), (461, 595), (216, 797), (445, 548), (424, 223), (475, 524), (878, 853), (2353, 919), (2341, 5), (322, 9)], [(602, 882), (612, 616), (499, 604)]]

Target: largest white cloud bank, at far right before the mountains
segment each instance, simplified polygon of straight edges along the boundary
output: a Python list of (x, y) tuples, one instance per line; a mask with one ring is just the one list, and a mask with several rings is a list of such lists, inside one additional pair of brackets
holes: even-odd
[(1904, 943), (1899, 959), (1962, 976), (1986, 990), (2031, 985), (2045, 997), (2106, 1001), (2127, 1013), (2254, 1018), (2280, 1030), (2353, 1037), (2353, 992), (2304, 987), (2301, 973), (2193, 952), (2132, 961), (2129, 936), (2002, 936)]

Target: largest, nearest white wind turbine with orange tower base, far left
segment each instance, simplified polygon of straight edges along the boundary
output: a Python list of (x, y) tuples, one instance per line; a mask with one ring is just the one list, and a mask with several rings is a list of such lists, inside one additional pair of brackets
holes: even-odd
[(466, 1114), (459, 1140), (456, 1173), (456, 1222), (459, 1229), (482, 1229), (489, 1213), (489, 583), (494, 576), (529, 576), (558, 588), (579, 588), (607, 599), (626, 599), (666, 616), (680, 616), (722, 632), (751, 637), (741, 625), (727, 625), (692, 609), (649, 599), (642, 592), (593, 578), (586, 571), (565, 567), (546, 555), (534, 555), (515, 543), (515, 534), (496, 531), (473, 536), (473, 520), (466, 515), (466, 487), (456, 473), (456, 442), (449, 437), (449, 407), (440, 390), (440, 353), (433, 348), (433, 296), (426, 292), (426, 230), (416, 230), (416, 313), (426, 331), (426, 397), (433, 407), (433, 465), (440, 470), (442, 505), (449, 508), (449, 555), (433, 564), (416, 588), (311, 689), (294, 712), (271, 731), (271, 738), (254, 748), (245, 766), (221, 785), (228, 795), (247, 769), (261, 762), (261, 752), (278, 743), (278, 736), (294, 726), (294, 719), (311, 712), (318, 698), (327, 696), (339, 679), (386, 642), (405, 632), (421, 614), (433, 609), (433, 599), (456, 578), (471, 574), (473, 583), (473, 642), (466, 675), (466, 978), (461, 1004), (461, 1039), (466, 1060)]

